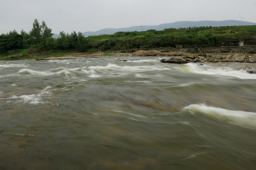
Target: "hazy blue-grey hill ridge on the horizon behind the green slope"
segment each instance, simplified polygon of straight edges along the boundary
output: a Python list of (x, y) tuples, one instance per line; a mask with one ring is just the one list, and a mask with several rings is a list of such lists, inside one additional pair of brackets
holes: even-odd
[[(131, 26), (126, 28), (105, 28), (99, 31), (87, 31), (83, 34), (85, 37), (91, 35), (101, 35), (101, 34), (114, 34), (119, 31), (131, 32), (131, 31), (147, 31), (154, 29), (156, 31), (164, 30), (165, 28), (187, 28), (187, 27), (200, 27), (200, 26), (254, 26), (256, 23), (238, 21), (238, 20), (225, 20), (225, 21), (179, 21), (168, 24), (160, 24), (157, 26)], [(53, 38), (58, 38), (58, 34), (54, 34)]]

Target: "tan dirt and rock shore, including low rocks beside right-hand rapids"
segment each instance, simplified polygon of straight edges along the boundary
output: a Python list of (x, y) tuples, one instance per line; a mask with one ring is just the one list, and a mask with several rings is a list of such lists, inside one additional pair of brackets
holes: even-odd
[[(186, 53), (183, 51), (161, 52), (156, 50), (135, 51), (133, 53), (104, 53), (102, 51), (91, 54), (86, 53), (70, 53), (62, 57), (48, 57), (36, 60), (51, 59), (81, 59), (81, 58), (101, 58), (101, 57), (163, 57), (162, 63), (186, 64), (197, 62), (201, 65), (206, 64), (216, 67), (229, 67), (234, 70), (245, 70), (250, 74), (256, 74), (256, 55), (251, 54), (225, 54), (225, 53)], [(125, 61), (125, 60), (124, 60)]]

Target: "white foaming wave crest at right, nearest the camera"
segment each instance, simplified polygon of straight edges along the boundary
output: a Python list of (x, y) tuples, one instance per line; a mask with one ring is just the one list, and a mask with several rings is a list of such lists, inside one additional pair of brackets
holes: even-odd
[(183, 108), (192, 114), (204, 114), (211, 119), (232, 123), (245, 127), (256, 127), (256, 113), (240, 110), (227, 110), (205, 104), (191, 104)]

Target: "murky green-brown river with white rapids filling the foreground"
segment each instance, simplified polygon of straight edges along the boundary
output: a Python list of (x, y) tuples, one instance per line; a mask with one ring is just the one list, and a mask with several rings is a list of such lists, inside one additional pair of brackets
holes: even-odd
[(0, 61), (0, 170), (254, 170), (256, 74), (160, 59)]

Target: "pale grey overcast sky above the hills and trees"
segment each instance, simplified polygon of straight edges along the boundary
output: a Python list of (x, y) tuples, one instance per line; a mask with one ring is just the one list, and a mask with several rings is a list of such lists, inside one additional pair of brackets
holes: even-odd
[(35, 18), (55, 34), (176, 21), (256, 23), (256, 0), (0, 0), (0, 34), (28, 33)]

